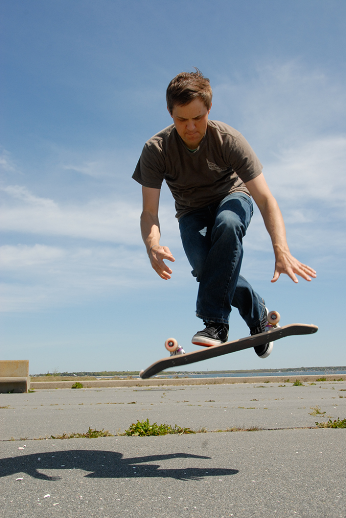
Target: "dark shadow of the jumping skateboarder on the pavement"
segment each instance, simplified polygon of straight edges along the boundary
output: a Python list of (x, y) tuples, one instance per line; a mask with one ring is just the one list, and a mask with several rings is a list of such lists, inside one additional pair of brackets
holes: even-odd
[[(171, 453), (124, 458), (122, 453), (98, 450), (67, 450), (18, 455), (0, 460), (0, 477), (18, 473), (41, 480), (61, 480), (61, 475), (46, 474), (42, 471), (83, 469), (89, 471), (86, 478), (145, 478), (160, 477), (176, 480), (202, 480), (205, 477), (234, 475), (237, 469), (179, 467), (160, 469), (159, 464), (147, 464), (173, 459), (210, 459), (203, 455)], [(184, 462), (180, 462), (180, 465)]]

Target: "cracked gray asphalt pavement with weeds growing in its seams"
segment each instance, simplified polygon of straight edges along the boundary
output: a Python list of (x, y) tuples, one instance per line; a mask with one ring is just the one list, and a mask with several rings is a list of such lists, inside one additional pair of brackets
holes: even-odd
[[(311, 427), (346, 382), (279, 385), (1, 394), (0, 516), (345, 518), (346, 430)], [(117, 435), (144, 419), (200, 433)], [(89, 427), (114, 437), (51, 438)]]

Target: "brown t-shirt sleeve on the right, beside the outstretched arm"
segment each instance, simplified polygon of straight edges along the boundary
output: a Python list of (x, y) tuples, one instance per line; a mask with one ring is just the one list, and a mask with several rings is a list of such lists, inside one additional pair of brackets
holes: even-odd
[(229, 150), (229, 161), (233, 170), (244, 183), (259, 176), (263, 169), (257, 155), (242, 134), (237, 136)]

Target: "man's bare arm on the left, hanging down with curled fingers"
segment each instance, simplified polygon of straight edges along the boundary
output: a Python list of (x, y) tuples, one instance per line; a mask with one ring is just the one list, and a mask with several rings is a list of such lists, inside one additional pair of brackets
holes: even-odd
[(172, 270), (163, 259), (174, 262), (168, 247), (160, 246), (160, 223), (158, 218), (160, 189), (142, 186), (143, 211), (141, 214), (141, 233), (149, 260), (161, 279), (171, 278)]

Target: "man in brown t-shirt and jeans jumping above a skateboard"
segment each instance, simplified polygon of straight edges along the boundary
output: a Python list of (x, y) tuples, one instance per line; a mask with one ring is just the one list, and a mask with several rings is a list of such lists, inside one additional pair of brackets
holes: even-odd
[[(160, 244), (158, 208), (166, 180), (175, 199), (184, 250), (199, 282), (197, 311), (205, 328), (192, 343), (213, 346), (227, 341), (231, 306), (250, 328), (262, 333), (267, 324), (264, 300), (240, 275), (243, 237), (258, 205), (275, 253), (272, 282), (287, 274), (311, 281), (316, 272), (289, 250), (278, 204), (262, 174), (262, 165), (242, 134), (219, 121), (209, 121), (212, 89), (196, 69), (178, 74), (167, 89), (167, 108), (173, 124), (149, 139), (133, 178), (142, 184), (141, 232), (152, 267), (162, 279), (172, 270), (170, 249)], [(273, 342), (255, 347), (267, 357)]]

